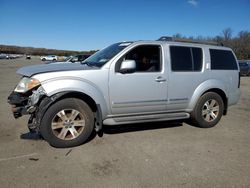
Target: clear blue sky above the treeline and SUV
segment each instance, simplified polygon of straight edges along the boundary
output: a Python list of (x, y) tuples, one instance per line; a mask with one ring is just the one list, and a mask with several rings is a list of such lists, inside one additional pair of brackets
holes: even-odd
[(0, 44), (95, 50), (228, 27), (250, 31), (250, 0), (0, 0)]

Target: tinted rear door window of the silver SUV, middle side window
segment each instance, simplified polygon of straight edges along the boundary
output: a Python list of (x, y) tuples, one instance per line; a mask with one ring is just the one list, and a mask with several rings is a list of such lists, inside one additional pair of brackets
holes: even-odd
[(201, 48), (170, 46), (172, 71), (201, 71)]

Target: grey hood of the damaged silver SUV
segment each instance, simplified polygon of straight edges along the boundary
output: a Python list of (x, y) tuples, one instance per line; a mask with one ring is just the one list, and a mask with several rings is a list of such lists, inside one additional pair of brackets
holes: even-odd
[(90, 70), (96, 67), (89, 67), (86, 64), (80, 63), (62, 63), (62, 64), (42, 64), (22, 67), (17, 70), (18, 74), (23, 76), (32, 76), (38, 73), (55, 72), (55, 71), (72, 71), (72, 70)]

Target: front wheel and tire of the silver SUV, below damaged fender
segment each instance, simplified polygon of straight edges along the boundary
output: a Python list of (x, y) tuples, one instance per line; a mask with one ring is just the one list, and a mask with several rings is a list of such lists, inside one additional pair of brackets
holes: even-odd
[(94, 129), (90, 107), (76, 98), (62, 99), (44, 113), (41, 135), (53, 147), (65, 148), (83, 144)]

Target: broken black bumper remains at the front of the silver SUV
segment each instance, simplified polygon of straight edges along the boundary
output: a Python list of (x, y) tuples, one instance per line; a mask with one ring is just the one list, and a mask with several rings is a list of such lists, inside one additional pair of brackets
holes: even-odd
[(27, 109), (25, 108), (28, 98), (28, 96), (16, 92), (12, 92), (8, 97), (8, 103), (11, 105), (11, 111), (15, 118), (28, 114)]

